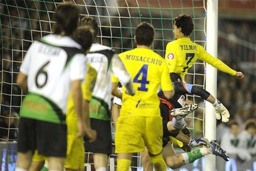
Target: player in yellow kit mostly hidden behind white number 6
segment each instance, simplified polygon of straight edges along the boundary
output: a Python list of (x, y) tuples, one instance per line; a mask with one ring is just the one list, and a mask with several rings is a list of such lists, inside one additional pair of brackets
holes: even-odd
[[(91, 36), (90, 36), (90, 35)], [(74, 40), (76, 40), (83, 49), (90, 49), (92, 43), (93, 30), (86, 27), (78, 27), (74, 33)], [(96, 131), (90, 128), (89, 119), (89, 102), (92, 99), (92, 91), (95, 85), (97, 72), (93, 67), (87, 63), (87, 74), (82, 83), (83, 95), (83, 123), (85, 123), (85, 134), (90, 141), (96, 140)], [(75, 113), (74, 101), (72, 99), (73, 93), (70, 91), (67, 102), (67, 156), (64, 167), (66, 170), (84, 170), (85, 162), (85, 148), (83, 144), (83, 133), (79, 133), (77, 127), (77, 114)], [(31, 171), (41, 170), (45, 164), (46, 157), (38, 154), (35, 151), (33, 155)]]

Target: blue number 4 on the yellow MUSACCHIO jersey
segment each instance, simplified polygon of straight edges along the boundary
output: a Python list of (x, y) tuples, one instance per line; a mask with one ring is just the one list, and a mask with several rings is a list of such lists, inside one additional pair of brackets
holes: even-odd
[[(140, 75), (142, 74), (142, 79), (139, 80)], [(139, 70), (139, 72), (134, 77), (134, 83), (140, 83), (140, 87), (138, 88), (139, 91), (148, 91), (146, 88), (146, 85), (149, 84), (149, 81), (147, 81), (148, 76), (148, 65), (143, 65), (142, 68)]]

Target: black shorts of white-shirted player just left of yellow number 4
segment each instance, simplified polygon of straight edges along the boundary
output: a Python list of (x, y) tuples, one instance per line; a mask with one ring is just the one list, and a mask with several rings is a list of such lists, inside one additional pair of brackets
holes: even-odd
[(112, 138), (110, 121), (91, 118), (90, 122), (92, 129), (97, 131), (97, 138), (93, 143), (88, 143), (85, 140), (85, 151), (111, 154)]

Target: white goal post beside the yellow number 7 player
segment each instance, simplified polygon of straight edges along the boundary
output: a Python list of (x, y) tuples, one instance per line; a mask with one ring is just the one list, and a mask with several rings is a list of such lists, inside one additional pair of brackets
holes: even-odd
[[(207, 0), (207, 52), (214, 57), (218, 55), (218, 0)], [(207, 64), (205, 75), (205, 88), (216, 97), (217, 70)], [(210, 102), (205, 104), (205, 137), (208, 140), (216, 139), (215, 109)], [(216, 156), (205, 156), (205, 170), (213, 171), (215, 167)]]

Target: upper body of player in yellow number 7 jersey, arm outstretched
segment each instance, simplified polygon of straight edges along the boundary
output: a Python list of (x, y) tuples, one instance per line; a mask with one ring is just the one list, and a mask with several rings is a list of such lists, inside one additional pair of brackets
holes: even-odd
[(194, 30), (192, 18), (188, 15), (178, 15), (174, 19), (175, 40), (166, 46), (164, 59), (168, 63), (169, 73), (179, 73), (184, 80), (187, 70), (199, 59), (207, 62), (218, 70), (237, 78), (244, 78), (242, 72), (236, 72), (221, 62), (220, 59), (208, 54), (203, 46), (193, 43), (189, 35)]

